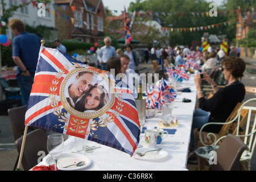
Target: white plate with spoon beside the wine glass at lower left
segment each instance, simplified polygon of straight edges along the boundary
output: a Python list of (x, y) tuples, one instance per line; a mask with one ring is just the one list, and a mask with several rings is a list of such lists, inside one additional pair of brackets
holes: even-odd
[[(70, 166), (68, 168), (62, 168), (65, 166), (69, 166), (71, 164), (77, 164), (81, 161), (85, 161), (85, 164), (83, 166)], [(45, 158), (43, 158), (43, 162), (51, 165), (54, 163), (53, 158), (51, 158), (50, 155), (47, 155)], [(78, 170), (82, 168), (86, 168), (91, 165), (91, 159), (86, 158), (86, 156), (81, 154), (61, 154), (58, 159), (57, 167), (61, 171), (73, 171)]]

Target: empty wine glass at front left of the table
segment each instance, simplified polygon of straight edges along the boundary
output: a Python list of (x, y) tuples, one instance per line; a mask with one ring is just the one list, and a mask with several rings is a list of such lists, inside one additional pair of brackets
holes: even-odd
[(52, 134), (47, 137), (47, 151), (54, 160), (55, 171), (57, 171), (57, 162), (64, 148), (63, 135)]

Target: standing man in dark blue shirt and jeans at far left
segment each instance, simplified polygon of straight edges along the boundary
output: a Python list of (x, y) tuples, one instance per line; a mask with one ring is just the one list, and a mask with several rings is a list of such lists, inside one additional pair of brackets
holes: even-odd
[(12, 57), (18, 66), (17, 81), (21, 88), (22, 105), (27, 105), (37, 68), (41, 39), (35, 34), (27, 33), (25, 25), (17, 18), (9, 21), (9, 27), (15, 35), (12, 42)]

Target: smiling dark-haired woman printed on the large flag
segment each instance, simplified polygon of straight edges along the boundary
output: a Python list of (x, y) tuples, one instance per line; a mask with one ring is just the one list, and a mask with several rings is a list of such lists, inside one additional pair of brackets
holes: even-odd
[(99, 110), (106, 104), (106, 93), (98, 90), (98, 86), (92, 86), (81, 100), (75, 104), (75, 110), (85, 112), (86, 110)]

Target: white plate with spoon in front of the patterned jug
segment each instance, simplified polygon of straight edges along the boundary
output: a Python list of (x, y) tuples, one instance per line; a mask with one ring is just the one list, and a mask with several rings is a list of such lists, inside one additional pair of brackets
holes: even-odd
[(136, 152), (146, 152), (150, 150), (155, 150), (156, 148), (137, 148), (133, 154), (133, 158), (139, 159), (139, 160), (160, 160), (163, 158), (166, 158), (169, 154), (166, 150), (161, 151), (153, 151), (153, 152), (147, 152), (144, 156), (139, 156), (136, 154)]

